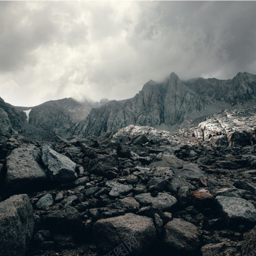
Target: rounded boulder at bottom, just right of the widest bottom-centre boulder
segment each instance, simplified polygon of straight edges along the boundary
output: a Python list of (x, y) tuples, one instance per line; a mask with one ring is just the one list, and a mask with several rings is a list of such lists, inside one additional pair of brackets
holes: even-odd
[(164, 244), (183, 253), (195, 251), (201, 245), (197, 227), (183, 219), (173, 219), (164, 226)]

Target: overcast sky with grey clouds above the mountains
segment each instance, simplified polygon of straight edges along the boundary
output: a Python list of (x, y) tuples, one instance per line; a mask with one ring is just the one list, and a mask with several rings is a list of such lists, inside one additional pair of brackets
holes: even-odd
[(150, 79), (256, 73), (256, 1), (0, 1), (0, 97), (131, 98)]

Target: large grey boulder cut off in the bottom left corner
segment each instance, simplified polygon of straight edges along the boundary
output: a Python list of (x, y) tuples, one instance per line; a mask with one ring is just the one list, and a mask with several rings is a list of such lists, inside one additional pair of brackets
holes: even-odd
[(0, 203), (0, 256), (24, 256), (34, 232), (28, 195), (13, 195)]

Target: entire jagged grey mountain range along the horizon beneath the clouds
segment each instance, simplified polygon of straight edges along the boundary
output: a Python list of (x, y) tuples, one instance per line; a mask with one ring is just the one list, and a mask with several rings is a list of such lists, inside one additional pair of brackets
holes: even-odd
[[(196, 78), (181, 81), (171, 73), (163, 82), (150, 80), (133, 98), (100, 102), (73, 98), (51, 100), (34, 107), (1, 100), (1, 136), (28, 129), (61, 137), (101, 135), (128, 125), (173, 131), (218, 110), (255, 105), (256, 75), (239, 72), (233, 79)], [(40, 133), (40, 132), (39, 132)]]

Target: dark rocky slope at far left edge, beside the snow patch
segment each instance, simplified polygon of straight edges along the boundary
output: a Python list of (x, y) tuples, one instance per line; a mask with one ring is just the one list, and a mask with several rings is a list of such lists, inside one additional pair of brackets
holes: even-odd
[(24, 118), (0, 98), (0, 137), (10, 137), (16, 130), (21, 129)]

